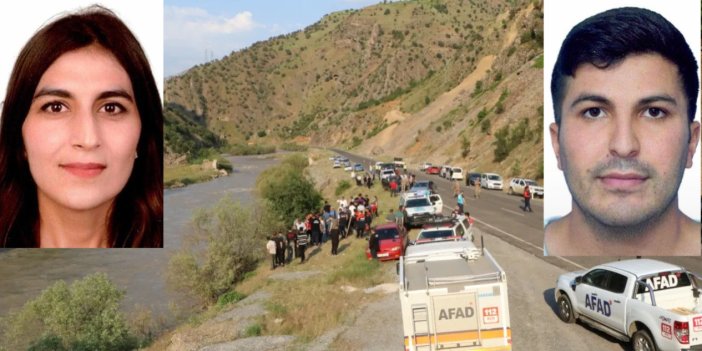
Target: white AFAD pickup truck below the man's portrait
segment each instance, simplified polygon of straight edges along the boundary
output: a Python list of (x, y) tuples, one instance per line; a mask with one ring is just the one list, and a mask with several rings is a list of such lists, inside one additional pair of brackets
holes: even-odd
[(702, 350), (696, 276), (665, 262), (612, 262), (561, 275), (555, 298), (561, 320), (576, 319), (635, 351)]

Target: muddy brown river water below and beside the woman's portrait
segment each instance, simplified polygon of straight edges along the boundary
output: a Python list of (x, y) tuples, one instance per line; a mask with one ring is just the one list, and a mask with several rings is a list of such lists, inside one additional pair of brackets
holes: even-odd
[(210, 207), (223, 196), (250, 202), (256, 177), (278, 162), (271, 156), (229, 159), (234, 165), (230, 176), (165, 191), (165, 249), (0, 251), (0, 317), (58, 280), (73, 281), (94, 272), (105, 272), (118, 287), (126, 290), (126, 310), (140, 305), (168, 318), (171, 296), (166, 289), (165, 267), (169, 251), (178, 248), (188, 232), (193, 211)]

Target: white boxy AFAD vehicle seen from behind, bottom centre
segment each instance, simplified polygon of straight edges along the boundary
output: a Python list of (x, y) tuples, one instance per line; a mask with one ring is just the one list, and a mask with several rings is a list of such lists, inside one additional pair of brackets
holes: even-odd
[(470, 241), (407, 248), (398, 265), (405, 350), (511, 350), (507, 277)]

